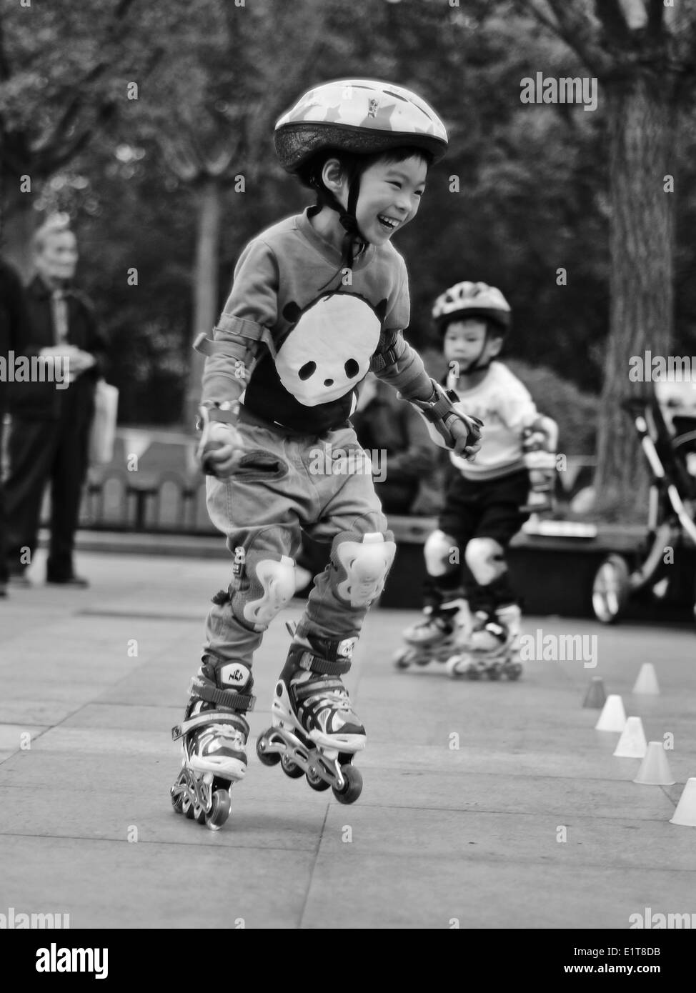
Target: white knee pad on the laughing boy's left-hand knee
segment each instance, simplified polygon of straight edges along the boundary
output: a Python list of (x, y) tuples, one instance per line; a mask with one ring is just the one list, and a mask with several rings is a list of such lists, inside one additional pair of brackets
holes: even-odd
[(295, 563), (287, 555), (278, 557), (267, 549), (239, 545), (234, 549), (232, 572), (232, 614), (246, 628), (265, 631), (295, 593)]

